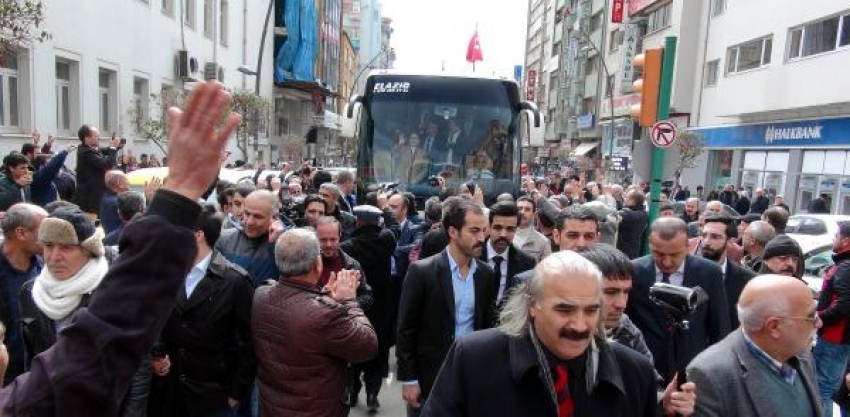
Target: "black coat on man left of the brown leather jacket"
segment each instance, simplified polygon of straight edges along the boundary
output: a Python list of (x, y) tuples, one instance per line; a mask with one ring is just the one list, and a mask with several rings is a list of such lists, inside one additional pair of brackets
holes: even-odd
[(253, 297), (248, 272), (213, 252), (206, 275), (188, 298), (184, 286), (162, 329), (160, 347), (171, 370), (154, 378), (160, 389), (152, 391), (151, 406), (162, 409), (153, 414), (178, 415), (180, 402), (200, 412), (225, 406), (228, 397), (248, 398), (257, 372)]

